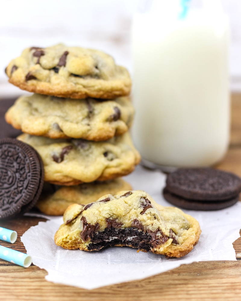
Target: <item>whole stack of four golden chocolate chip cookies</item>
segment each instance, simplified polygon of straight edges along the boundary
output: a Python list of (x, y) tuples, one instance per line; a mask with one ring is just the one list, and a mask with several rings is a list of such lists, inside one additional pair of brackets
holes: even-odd
[(128, 133), (134, 109), (124, 67), (101, 51), (58, 44), (25, 49), (6, 73), (35, 93), (18, 98), (5, 118), (42, 157), (42, 212), (61, 215), (72, 203), (131, 189), (119, 178), (140, 161)]

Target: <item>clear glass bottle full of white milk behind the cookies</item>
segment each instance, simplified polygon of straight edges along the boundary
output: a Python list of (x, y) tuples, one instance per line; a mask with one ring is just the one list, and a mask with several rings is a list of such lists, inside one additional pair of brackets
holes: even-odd
[(146, 4), (132, 28), (134, 144), (149, 167), (211, 166), (229, 142), (228, 18), (218, 0)]

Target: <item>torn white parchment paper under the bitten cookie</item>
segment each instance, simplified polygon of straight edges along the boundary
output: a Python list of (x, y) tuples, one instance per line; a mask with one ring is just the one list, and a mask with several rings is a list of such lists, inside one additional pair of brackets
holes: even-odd
[[(166, 178), (163, 173), (138, 166), (125, 178), (133, 189), (144, 190), (157, 203), (170, 206), (161, 195)], [(202, 234), (194, 249), (179, 259), (137, 253), (130, 247), (108, 247), (92, 252), (65, 250), (54, 243), (62, 217), (45, 216), (50, 220), (31, 227), (21, 241), (33, 263), (48, 272), (46, 280), (85, 289), (146, 278), (191, 262), (236, 260), (232, 243), (239, 237), (241, 228), (241, 202), (218, 211), (184, 211), (199, 221)]]

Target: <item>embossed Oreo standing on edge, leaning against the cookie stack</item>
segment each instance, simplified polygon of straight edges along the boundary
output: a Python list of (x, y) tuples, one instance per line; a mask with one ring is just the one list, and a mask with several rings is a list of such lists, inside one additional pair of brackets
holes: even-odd
[(22, 141), (0, 139), (0, 219), (30, 210), (39, 198), (43, 182), (39, 154)]

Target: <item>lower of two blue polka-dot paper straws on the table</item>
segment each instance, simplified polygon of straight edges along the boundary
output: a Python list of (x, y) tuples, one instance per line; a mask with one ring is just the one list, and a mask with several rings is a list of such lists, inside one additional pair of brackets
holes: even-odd
[(0, 245), (0, 258), (15, 263), (17, 265), (21, 265), (24, 268), (28, 268), (32, 263), (31, 256), (22, 252), (18, 252), (16, 250), (3, 247), (1, 245)]

